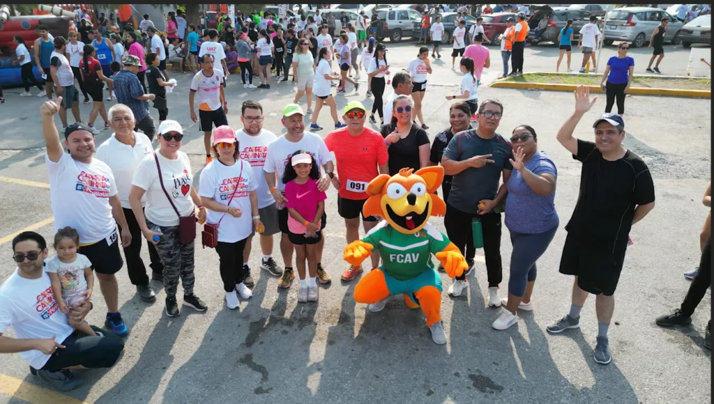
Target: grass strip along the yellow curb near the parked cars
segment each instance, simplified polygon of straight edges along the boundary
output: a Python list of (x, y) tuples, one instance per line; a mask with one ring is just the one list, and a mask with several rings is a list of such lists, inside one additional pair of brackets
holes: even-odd
[[(508, 77), (504, 81), (513, 83), (570, 84), (574, 86), (600, 86), (602, 76), (590, 74), (548, 74), (527, 73), (523, 76)], [(643, 89), (711, 90), (710, 79), (664, 79), (657, 76), (635, 76), (633, 87)]]

